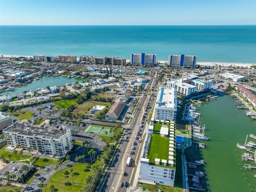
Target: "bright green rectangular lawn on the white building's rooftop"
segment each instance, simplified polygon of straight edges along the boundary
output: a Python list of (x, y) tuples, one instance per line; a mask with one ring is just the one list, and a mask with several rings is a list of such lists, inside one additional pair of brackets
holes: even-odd
[(160, 134), (151, 134), (150, 150), (147, 158), (150, 163), (155, 163), (155, 158), (169, 159), (169, 137), (161, 137)]

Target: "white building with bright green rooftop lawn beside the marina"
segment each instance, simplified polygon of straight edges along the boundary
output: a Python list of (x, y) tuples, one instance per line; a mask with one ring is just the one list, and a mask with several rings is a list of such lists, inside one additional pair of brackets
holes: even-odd
[[(140, 182), (174, 186), (176, 172), (176, 164), (174, 162), (176, 156), (174, 126), (174, 122), (170, 122), (170, 128), (162, 125), (160, 133), (148, 134), (143, 158), (140, 161)], [(161, 149), (168, 147), (166, 151), (161, 151), (159, 148), (150, 148), (151, 145), (158, 145)]]

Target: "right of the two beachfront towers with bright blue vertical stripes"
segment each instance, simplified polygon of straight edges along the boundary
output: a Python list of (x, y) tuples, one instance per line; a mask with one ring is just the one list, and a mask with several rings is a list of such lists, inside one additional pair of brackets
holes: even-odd
[(170, 67), (194, 68), (196, 66), (196, 56), (169, 55), (168, 64)]

